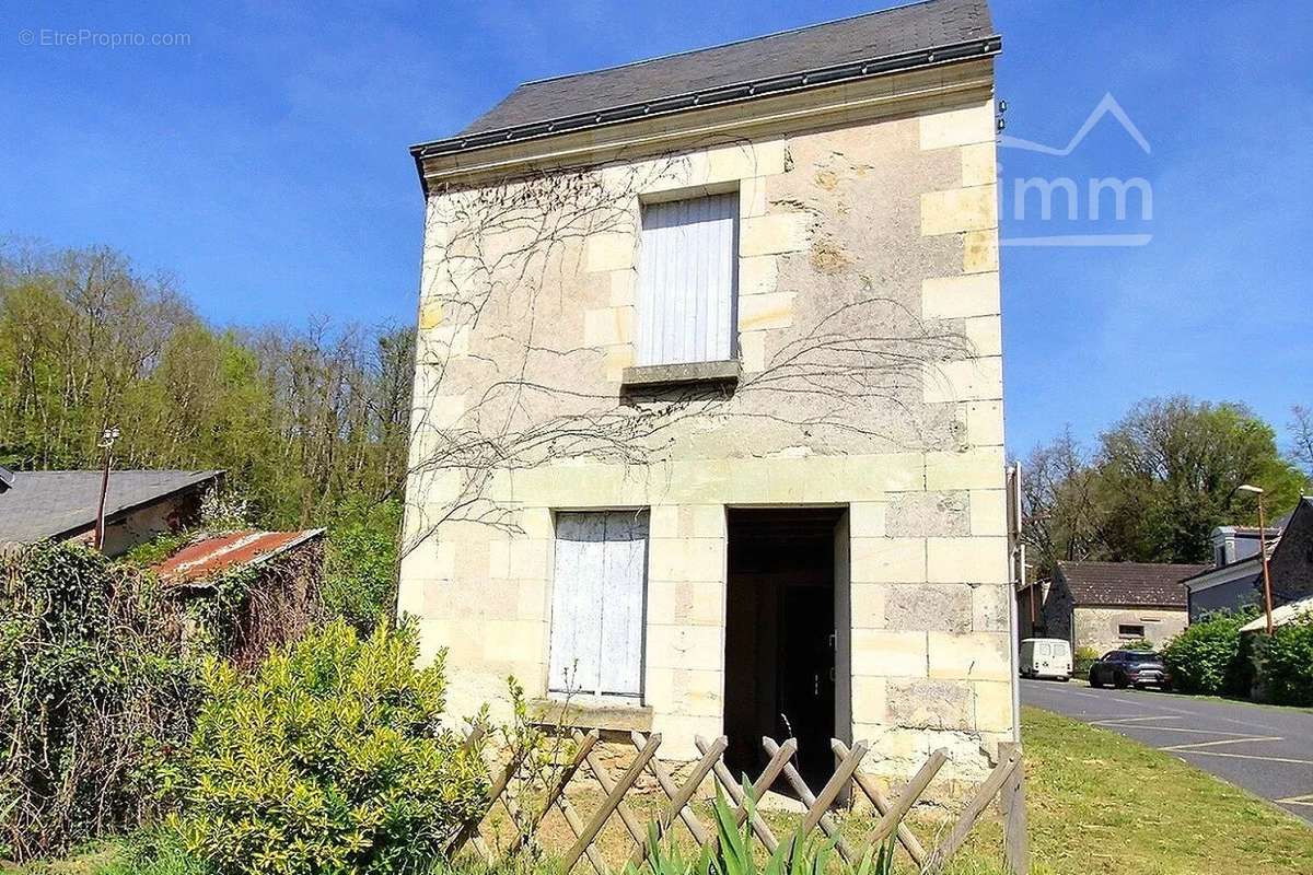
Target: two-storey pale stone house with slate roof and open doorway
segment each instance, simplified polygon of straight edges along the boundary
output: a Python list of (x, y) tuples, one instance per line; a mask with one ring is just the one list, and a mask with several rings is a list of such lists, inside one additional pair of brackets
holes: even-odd
[[(427, 205), (399, 609), (696, 758), (1018, 737), (994, 58), (928, 0), (516, 88)], [(569, 701), (569, 708), (559, 703)], [(500, 706), (499, 706), (500, 707)]]

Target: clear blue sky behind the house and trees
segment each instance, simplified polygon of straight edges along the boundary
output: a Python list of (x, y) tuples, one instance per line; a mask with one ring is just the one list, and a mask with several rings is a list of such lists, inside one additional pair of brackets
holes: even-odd
[[(105, 243), (175, 274), (215, 323), (307, 314), (406, 321), (421, 201), (406, 147), (516, 83), (890, 4), (734, 0), (7, 4), (0, 235)], [(1142, 247), (1004, 247), (1008, 445), (1092, 437), (1144, 396), (1313, 404), (1313, 24), (1283, 3), (1014, 3), (1003, 33), (1004, 239), (1149, 235)], [(184, 46), (55, 46), (59, 34)], [(26, 39), (33, 45), (24, 45)], [(1152, 218), (1043, 222), (1015, 180), (1144, 178)], [(1035, 197), (1032, 194), (1032, 197)], [(1060, 210), (1065, 216), (1065, 210)]]

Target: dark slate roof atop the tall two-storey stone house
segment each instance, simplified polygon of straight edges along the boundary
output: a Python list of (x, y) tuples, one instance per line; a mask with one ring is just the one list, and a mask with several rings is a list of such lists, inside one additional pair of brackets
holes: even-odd
[[(605, 121), (951, 63), (997, 54), (999, 49), (1001, 39), (985, 0), (926, 0), (712, 49), (524, 83), (454, 138), (411, 151), (416, 156), (453, 152)], [(520, 130), (525, 126), (541, 127)], [(507, 134), (487, 136), (491, 131)]]

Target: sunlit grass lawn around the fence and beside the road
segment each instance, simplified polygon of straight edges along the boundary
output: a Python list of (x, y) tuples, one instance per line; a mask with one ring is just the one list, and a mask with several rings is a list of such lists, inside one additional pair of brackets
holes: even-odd
[[(1309, 875), (1313, 828), (1266, 802), (1170, 754), (1113, 732), (1024, 708), (1023, 743), (1031, 851), (1036, 875)], [(650, 808), (655, 811), (655, 799)], [(643, 817), (647, 804), (633, 805)], [(592, 804), (580, 802), (580, 811)], [(768, 812), (783, 834), (789, 819)], [(860, 836), (865, 816), (844, 826)], [(709, 817), (704, 816), (704, 823)], [(932, 846), (949, 821), (918, 813), (911, 825)], [(550, 828), (550, 819), (545, 823)], [(559, 829), (563, 829), (563, 824)], [(685, 833), (687, 834), (687, 833)], [(490, 836), (491, 837), (491, 836)], [(554, 836), (551, 846), (565, 846)], [(617, 819), (603, 834), (603, 851), (622, 865), (632, 845)], [(997, 816), (982, 819), (947, 875), (1001, 872)], [(98, 875), (118, 857), (104, 844), (58, 863), (24, 867), (22, 875)], [(901, 871), (910, 872), (910, 866)], [(576, 872), (591, 871), (580, 865)], [(121, 875), (121, 872), (116, 874)]]

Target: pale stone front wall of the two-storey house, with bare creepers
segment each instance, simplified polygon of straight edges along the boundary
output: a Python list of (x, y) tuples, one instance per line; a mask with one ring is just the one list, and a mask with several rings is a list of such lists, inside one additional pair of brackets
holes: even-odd
[[(839, 506), (838, 732), (892, 777), (985, 773), (1016, 733), (994, 138), (983, 60), (424, 164), (399, 607), (456, 712), (545, 694), (553, 514), (649, 509), (643, 704), (695, 757), (726, 509)], [(626, 392), (641, 205), (722, 192), (742, 376)]]

